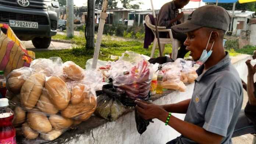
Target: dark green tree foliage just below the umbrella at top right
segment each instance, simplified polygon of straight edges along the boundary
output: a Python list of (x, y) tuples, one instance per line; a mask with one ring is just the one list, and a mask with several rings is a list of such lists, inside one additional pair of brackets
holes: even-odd
[[(232, 10), (233, 9), (233, 3), (218, 3), (218, 6), (223, 7), (226, 10)], [(253, 3), (240, 4), (240, 3), (237, 2), (235, 4), (235, 10), (256, 11), (256, 3), (253, 2)]]

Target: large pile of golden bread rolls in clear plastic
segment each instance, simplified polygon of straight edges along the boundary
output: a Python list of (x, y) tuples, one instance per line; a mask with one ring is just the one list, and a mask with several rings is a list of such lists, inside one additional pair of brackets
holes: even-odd
[(27, 139), (54, 140), (69, 127), (90, 118), (97, 107), (95, 91), (74, 62), (37, 59), (30, 68), (7, 77), (7, 97), (15, 112), (14, 126)]

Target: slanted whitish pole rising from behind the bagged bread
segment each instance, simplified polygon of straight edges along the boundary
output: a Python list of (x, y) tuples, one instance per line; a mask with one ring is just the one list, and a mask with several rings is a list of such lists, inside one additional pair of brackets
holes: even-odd
[(102, 5), (102, 11), (100, 12), (100, 22), (99, 22), (99, 28), (98, 28), (98, 33), (97, 33), (97, 40), (96, 40), (96, 46), (95, 46), (95, 50), (94, 50), (94, 54), (93, 54), (93, 61), (92, 61), (92, 68), (96, 69), (97, 67), (97, 62), (98, 62), (98, 58), (99, 58), (99, 53), (100, 53), (100, 43), (102, 41), (102, 34), (103, 34), (103, 29), (104, 29), (104, 25), (105, 25), (105, 21), (107, 19), (107, 1), (108, 0), (104, 0), (103, 1), (103, 5)]

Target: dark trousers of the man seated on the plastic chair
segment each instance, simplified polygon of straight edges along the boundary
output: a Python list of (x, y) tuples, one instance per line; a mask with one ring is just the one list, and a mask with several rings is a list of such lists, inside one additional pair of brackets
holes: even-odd
[[(181, 47), (178, 50), (178, 54), (177, 54), (177, 58), (184, 58), (186, 53), (188, 53), (188, 51), (186, 50), (186, 46), (184, 45), (184, 42), (186, 40), (186, 34), (185, 33), (176, 33), (174, 31), (173, 32), (173, 38), (179, 40), (179, 42), (181, 42)], [(170, 37), (169, 33), (166, 32), (160, 32), (160, 36), (161, 38), (166, 38), (166, 37)]]

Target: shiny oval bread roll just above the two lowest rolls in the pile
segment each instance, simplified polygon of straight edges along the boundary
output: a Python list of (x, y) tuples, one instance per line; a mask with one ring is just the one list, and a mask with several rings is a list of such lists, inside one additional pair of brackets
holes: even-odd
[[(36, 109), (33, 109), (36, 110)], [(39, 133), (48, 133), (51, 131), (51, 123), (49, 122), (46, 115), (32, 111), (28, 112), (27, 116), (28, 124), (33, 129)]]

